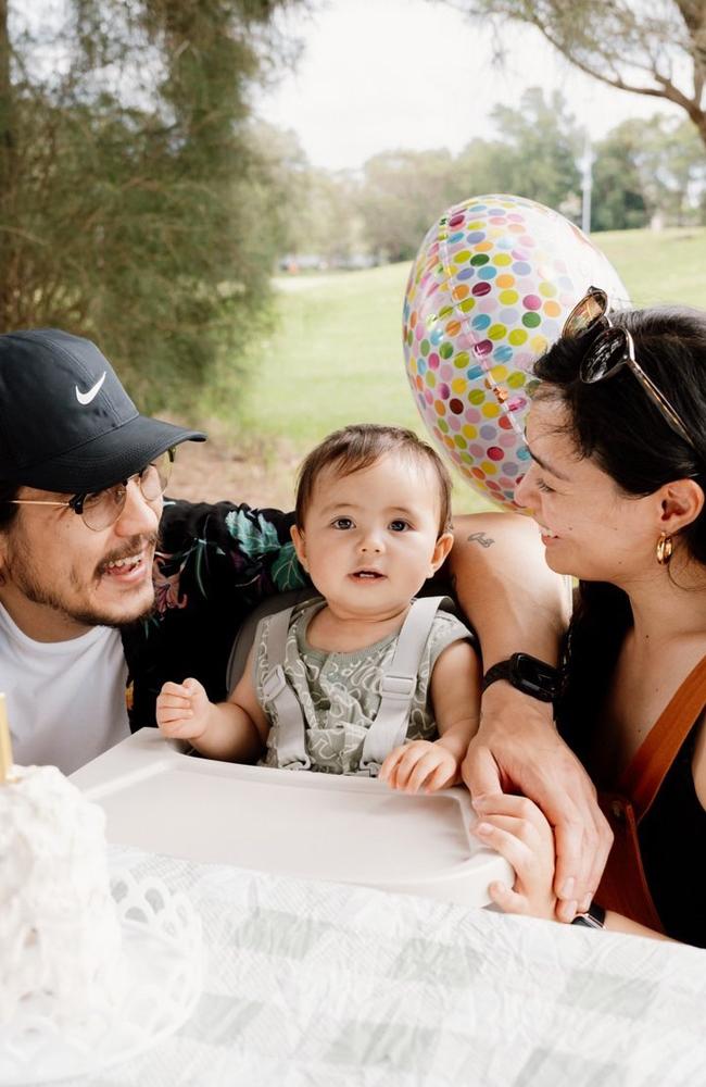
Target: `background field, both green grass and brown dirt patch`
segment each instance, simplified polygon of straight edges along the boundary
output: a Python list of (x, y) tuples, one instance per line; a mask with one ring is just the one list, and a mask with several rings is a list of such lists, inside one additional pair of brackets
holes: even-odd
[[(633, 304), (706, 305), (706, 228), (607, 232), (593, 241), (620, 273)], [(227, 403), (213, 403), (211, 440), (180, 452), (179, 492), (289, 508), (299, 461), (329, 430), (392, 423), (425, 437), (402, 357), (408, 273), (403, 262), (277, 277), (269, 329), (251, 350), (242, 401), (231, 412)], [(458, 479), (454, 508), (490, 505)]]

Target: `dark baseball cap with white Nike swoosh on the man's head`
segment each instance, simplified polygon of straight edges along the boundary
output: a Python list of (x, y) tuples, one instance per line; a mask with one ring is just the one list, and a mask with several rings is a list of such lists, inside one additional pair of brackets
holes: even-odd
[(140, 415), (94, 343), (59, 328), (0, 336), (0, 479), (81, 493), (127, 479), (200, 430)]

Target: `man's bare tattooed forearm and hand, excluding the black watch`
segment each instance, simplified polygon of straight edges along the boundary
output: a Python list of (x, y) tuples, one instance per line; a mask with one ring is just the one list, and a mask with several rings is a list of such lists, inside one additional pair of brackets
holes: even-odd
[[(556, 663), (570, 611), (565, 578), (544, 561), (537, 525), (510, 513), (456, 518), (447, 560), (456, 598), (475, 627), (483, 670), (513, 653)], [(550, 703), (505, 680), (482, 696), (480, 726), (463, 765), (474, 796), (519, 791), (554, 828), (555, 891), (562, 920), (588, 909), (610, 849), (595, 788), (558, 736)]]

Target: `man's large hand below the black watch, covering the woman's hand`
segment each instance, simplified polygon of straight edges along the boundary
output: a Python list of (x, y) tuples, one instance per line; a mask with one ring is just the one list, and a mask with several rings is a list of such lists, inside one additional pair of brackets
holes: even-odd
[(471, 798), (521, 792), (554, 829), (557, 916), (588, 910), (613, 836), (583, 766), (558, 736), (549, 704), (500, 680), (483, 695), (478, 733), (462, 766)]

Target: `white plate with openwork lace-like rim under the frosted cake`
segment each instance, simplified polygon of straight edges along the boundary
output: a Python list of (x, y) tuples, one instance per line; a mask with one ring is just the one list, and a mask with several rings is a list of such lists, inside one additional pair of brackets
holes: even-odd
[(201, 922), (157, 879), (112, 877), (119, 896), (126, 985), (119, 1000), (77, 1022), (58, 1022), (51, 997), (23, 1001), (0, 1028), (0, 1085), (51, 1083), (128, 1061), (177, 1030), (202, 989)]

